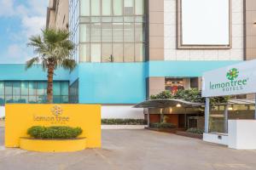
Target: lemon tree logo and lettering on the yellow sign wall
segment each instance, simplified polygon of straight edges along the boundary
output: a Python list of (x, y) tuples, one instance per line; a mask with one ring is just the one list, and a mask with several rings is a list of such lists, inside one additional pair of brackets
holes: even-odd
[(51, 124), (66, 124), (69, 122), (68, 116), (63, 116), (63, 109), (61, 105), (55, 105), (50, 109), (52, 116), (38, 116), (34, 115), (33, 120), (35, 122), (50, 122)]

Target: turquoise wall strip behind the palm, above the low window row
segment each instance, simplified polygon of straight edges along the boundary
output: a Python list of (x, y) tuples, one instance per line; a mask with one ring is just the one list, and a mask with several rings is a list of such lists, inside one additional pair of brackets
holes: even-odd
[[(69, 71), (57, 69), (55, 71), (55, 80), (68, 80)], [(25, 65), (2, 64), (0, 65), (0, 80), (47, 80), (47, 73), (44, 72), (40, 65), (35, 65), (26, 71)]]

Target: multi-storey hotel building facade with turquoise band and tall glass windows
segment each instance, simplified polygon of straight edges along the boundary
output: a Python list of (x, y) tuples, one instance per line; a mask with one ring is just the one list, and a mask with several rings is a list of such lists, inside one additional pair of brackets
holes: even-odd
[[(253, 0), (50, 0), (46, 26), (71, 32), (78, 63), (55, 80), (69, 82), (69, 103), (137, 111), (152, 94), (201, 88), (204, 71), (255, 59), (255, 10)], [(41, 86), (38, 77), (11, 77), (0, 78)]]

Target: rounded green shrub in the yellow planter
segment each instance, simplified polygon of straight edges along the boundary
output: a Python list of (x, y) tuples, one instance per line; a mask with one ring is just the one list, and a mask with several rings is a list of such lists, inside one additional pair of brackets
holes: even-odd
[(83, 132), (81, 127), (42, 127), (27, 129), (27, 134), (35, 139), (74, 139)]

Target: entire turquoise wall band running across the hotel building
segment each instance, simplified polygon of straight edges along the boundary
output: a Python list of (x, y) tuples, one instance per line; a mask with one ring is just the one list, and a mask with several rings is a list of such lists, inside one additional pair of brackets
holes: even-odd
[[(201, 77), (210, 71), (241, 61), (149, 61), (144, 63), (82, 63), (70, 73), (55, 71), (55, 80), (79, 79), (79, 103), (136, 104), (146, 99), (147, 77)], [(0, 65), (0, 80), (47, 80), (34, 66)]]

